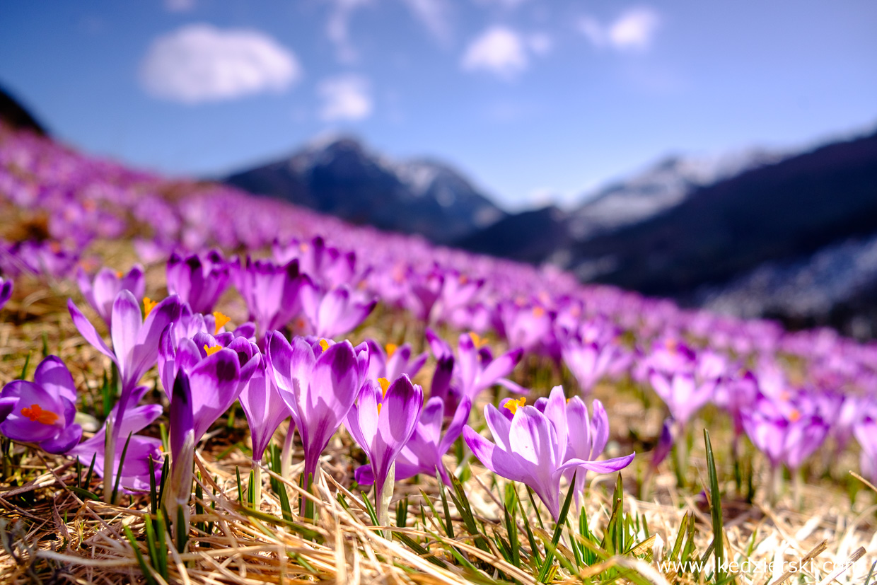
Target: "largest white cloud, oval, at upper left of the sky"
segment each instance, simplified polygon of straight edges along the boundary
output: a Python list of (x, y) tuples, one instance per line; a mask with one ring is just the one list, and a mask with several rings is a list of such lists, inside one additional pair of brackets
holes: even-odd
[(148, 93), (182, 103), (279, 92), (301, 75), (296, 55), (264, 32), (203, 24), (153, 40), (140, 66)]

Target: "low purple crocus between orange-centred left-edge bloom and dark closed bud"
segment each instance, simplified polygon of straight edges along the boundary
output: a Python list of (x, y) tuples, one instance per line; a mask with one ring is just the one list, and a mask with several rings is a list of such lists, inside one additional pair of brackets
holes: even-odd
[[(139, 386), (132, 390), (132, 403), (139, 403), (140, 399), (146, 394), (148, 388)], [(122, 460), (122, 446), (128, 441), (128, 451), (125, 453), (125, 463), (122, 466), (122, 477), (119, 480), (120, 490), (123, 492), (146, 491), (149, 489), (149, 475), (156, 476), (156, 483), (159, 481), (161, 471), (161, 441), (153, 437), (146, 437), (136, 433), (142, 431), (149, 424), (161, 416), (162, 408), (160, 404), (144, 404), (136, 406), (125, 411), (125, 416), (118, 417), (117, 403), (111, 410), (110, 418), (118, 419), (116, 431), (118, 436), (124, 438), (119, 448), (113, 449), (113, 463), (107, 466), (107, 427), (103, 426), (100, 431), (96, 432), (91, 439), (82, 441), (79, 445), (68, 451), (68, 455), (76, 457), (82, 462), (82, 465), (91, 464), (92, 458), (95, 460), (95, 473), (99, 477), (103, 477), (104, 489), (112, 490), (116, 485), (116, 474), (119, 473), (119, 463)], [(128, 436), (131, 439), (128, 440)], [(150, 459), (152, 467), (150, 467)], [(104, 495), (105, 499), (111, 497), (111, 492)]]

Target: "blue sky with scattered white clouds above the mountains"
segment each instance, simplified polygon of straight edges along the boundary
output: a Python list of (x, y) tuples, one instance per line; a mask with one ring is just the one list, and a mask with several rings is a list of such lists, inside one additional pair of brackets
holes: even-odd
[(219, 175), (329, 132), (509, 209), (667, 153), (877, 125), (873, 0), (4, 3), (0, 84), (61, 139)]

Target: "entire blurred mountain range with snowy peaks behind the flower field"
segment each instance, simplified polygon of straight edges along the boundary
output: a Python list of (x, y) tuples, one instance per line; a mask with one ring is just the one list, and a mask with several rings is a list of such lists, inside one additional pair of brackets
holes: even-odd
[(877, 336), (873, 132), (800, 152), (668, 156), (572, 210), (506, 213), (446, 164), (390, 161), (352, 138), (226, 181), (687, 306)]

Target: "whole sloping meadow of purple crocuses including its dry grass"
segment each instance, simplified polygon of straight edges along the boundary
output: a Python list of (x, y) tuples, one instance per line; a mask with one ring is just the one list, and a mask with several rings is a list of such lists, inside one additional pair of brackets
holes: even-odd
[(4, 582), (871, 578), (875, 344), (3, 125), (0, 218)]

